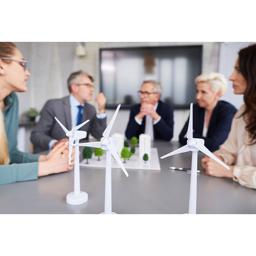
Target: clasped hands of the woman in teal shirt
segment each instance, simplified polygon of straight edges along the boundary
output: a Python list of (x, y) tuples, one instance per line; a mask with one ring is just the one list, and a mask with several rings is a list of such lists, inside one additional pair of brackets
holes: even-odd
[[(58, 149), (57, 149), (57, 147), (58, 147)], [(73, 169), (74, 152), (75, 152), (74, 147), (72, 149), (70, 165), (68, 164), (67, 145), (66, 144), (64, 144), (64, 145), (62, 144), (60, 146), (57, 145), (57, 146), (55, 146), (55, 148), (53, 148), (49, 152), (49, 154), (51, 153), (49, 156), (49, 159), (40, 161), (38, 163), (38, 177), (46, 176), (46, 175), (49, 175), (52, 173), (68, 172)]]

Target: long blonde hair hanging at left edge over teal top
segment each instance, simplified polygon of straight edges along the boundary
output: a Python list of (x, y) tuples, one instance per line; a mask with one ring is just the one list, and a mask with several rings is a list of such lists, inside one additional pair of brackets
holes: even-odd
[(6, 132), (4, 128), (3, 113), (0, 110), (0, 164), (9, 164), (10, 156), (8, 152)]

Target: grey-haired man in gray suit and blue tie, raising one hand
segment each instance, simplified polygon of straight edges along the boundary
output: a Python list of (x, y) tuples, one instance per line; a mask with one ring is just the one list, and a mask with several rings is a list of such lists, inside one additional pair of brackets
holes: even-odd
[(72, 73), (68, 80), (68, 89), (70, 96), (62, 99), (50, 99), (41, 110), (41, 118), (34, 131), (32, 131), (30, 140), (34, 144), (34, 153), (46, 151), (54, 148), (60, 142), (68, 141), (65, 132), (56, 122), (56, 116), (61, 123), (70, 131), (74, 126), (90, 119), (81, 131), (87, 131), (89, 134), (99, 140), (106, 128), (105, 104), (106, 98), (103, 93), (96, 96), (98, 102), (98, 113), (95, 108), (86, 103), (93, 96), (93, 77), (79, 70)]

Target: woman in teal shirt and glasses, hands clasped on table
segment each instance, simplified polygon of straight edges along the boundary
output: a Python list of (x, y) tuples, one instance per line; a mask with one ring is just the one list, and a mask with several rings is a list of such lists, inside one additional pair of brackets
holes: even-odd
[(0, 184), (35, 180), (40, 176), (73, 169), (68, 165), (67, 145), (62, 143), (47, 155), (17, 149), (18, 101), (15, 92), (27, 90), (26, 61), (15, 44), (0, 42)]

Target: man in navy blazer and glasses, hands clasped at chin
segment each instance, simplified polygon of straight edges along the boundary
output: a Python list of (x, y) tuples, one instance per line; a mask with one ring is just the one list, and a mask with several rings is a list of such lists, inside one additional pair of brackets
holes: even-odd
[(125, 131), (128, 139), (149, 134), (151, 140), (171, 140), (173, 137), (173, 106), (160, 101), (161, 84), (144, 81), (139, 94), (140, 104), (131, 107), (130, 119)]

